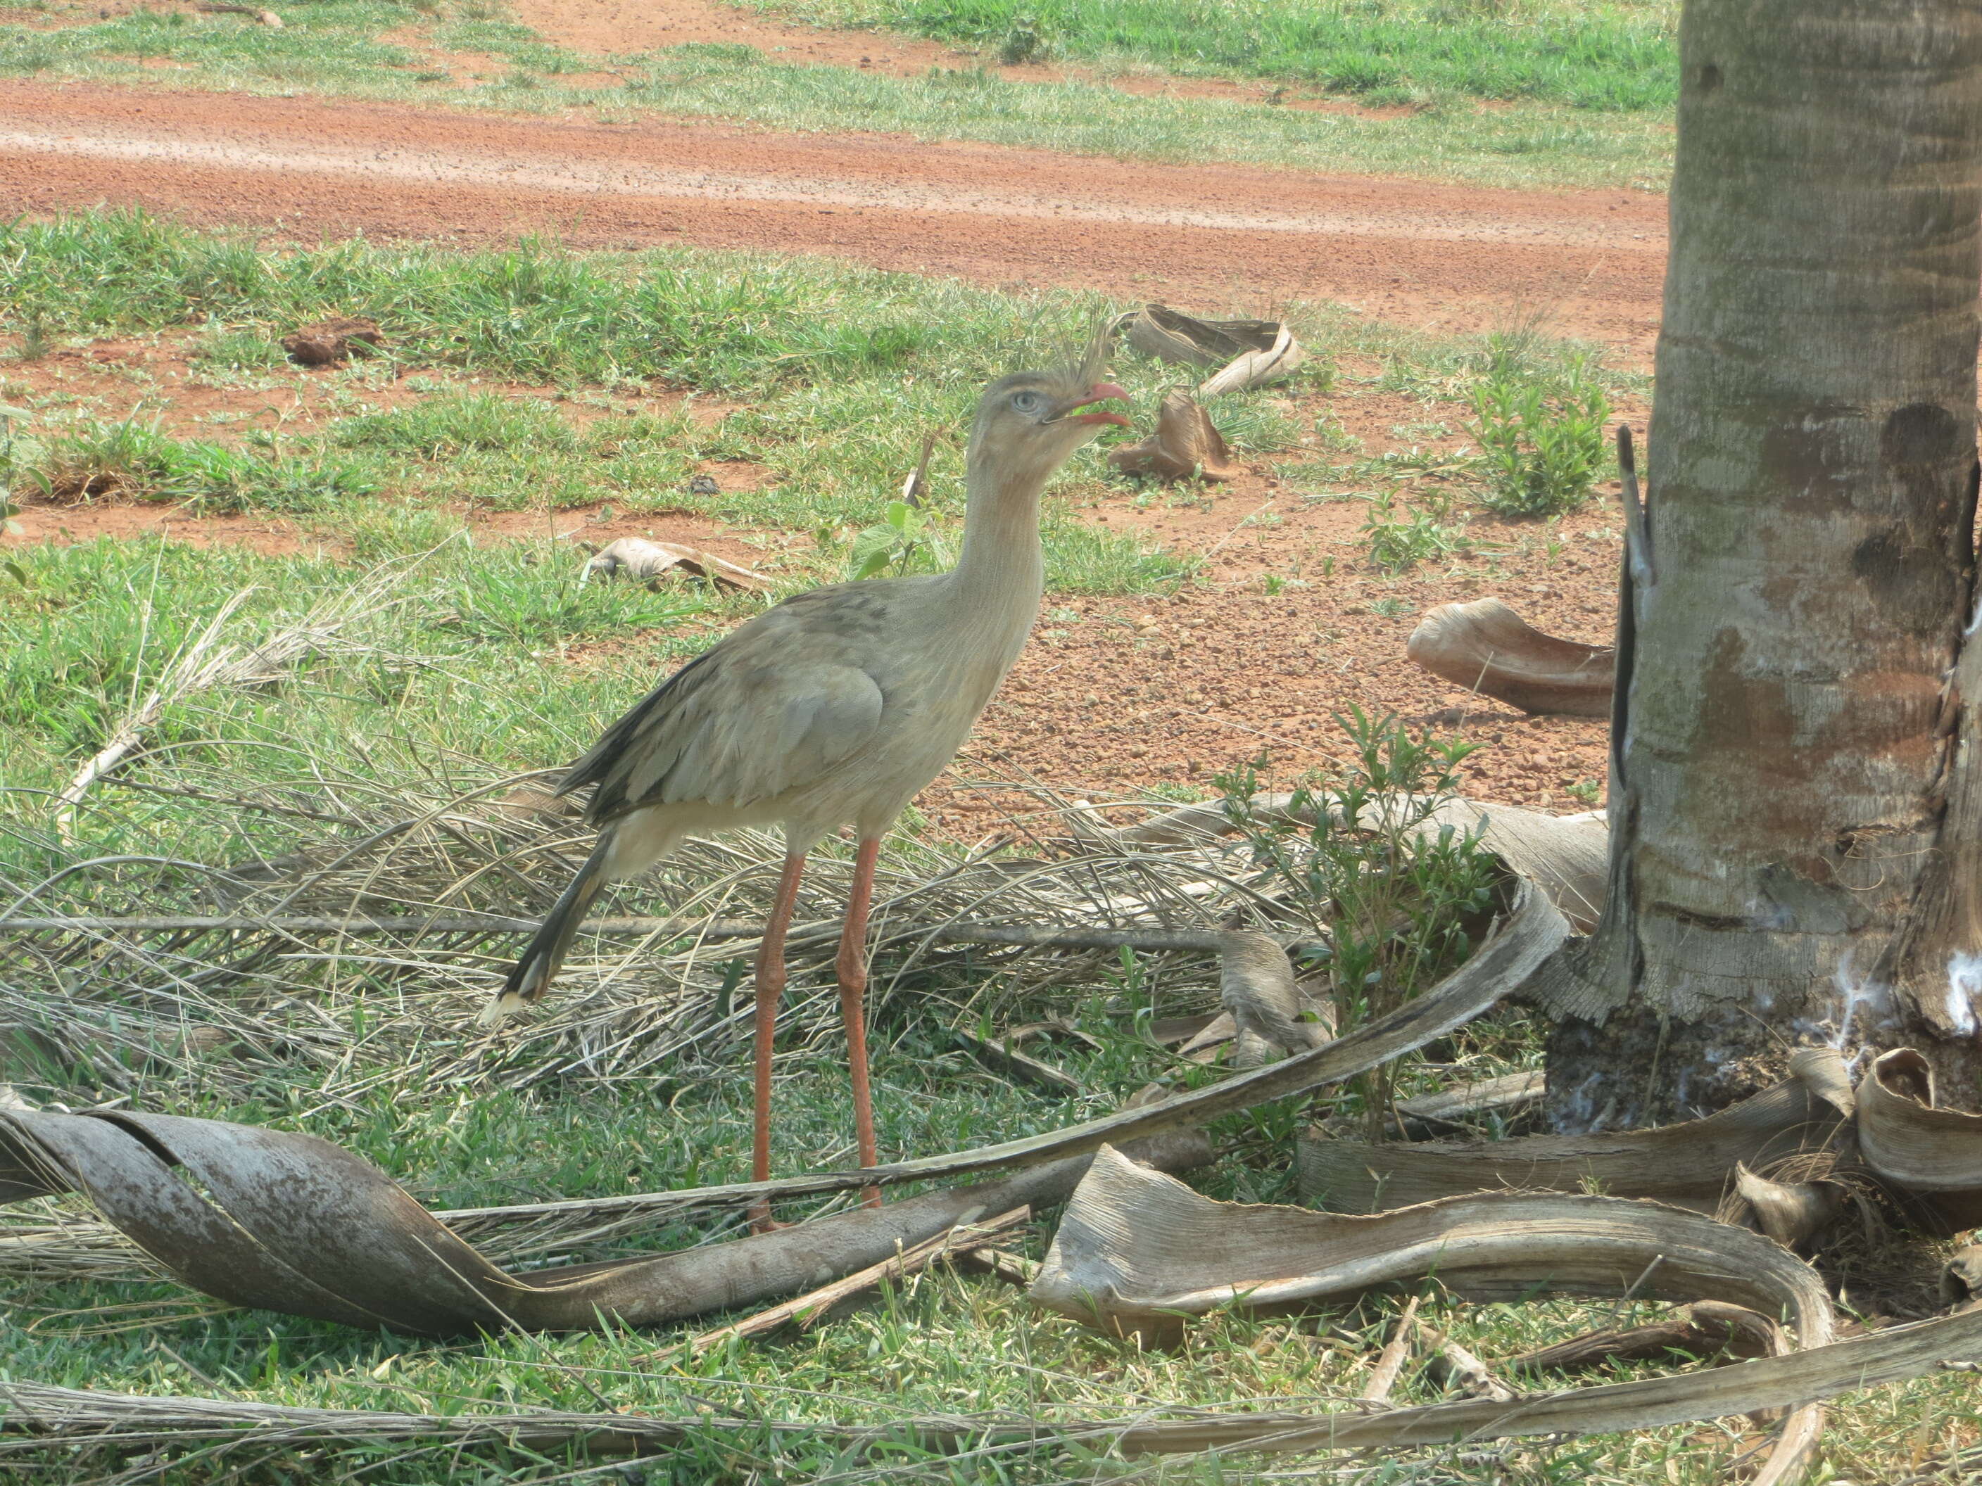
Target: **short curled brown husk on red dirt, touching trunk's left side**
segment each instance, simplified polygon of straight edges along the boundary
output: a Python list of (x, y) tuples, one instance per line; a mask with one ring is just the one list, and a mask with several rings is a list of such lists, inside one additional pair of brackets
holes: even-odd
[(1498, 598), (1439, 604), (1403, 650), (1433, 676), (1526, 713), (1609, 717), (1615, 650), (1542, 634)]

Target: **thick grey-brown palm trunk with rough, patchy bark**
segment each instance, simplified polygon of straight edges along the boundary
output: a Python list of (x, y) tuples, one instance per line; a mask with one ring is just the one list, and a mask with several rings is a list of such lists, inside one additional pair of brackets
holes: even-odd
[(1974, 1106), (1982, 6), (1689, 0), (1611, 896), (1542, 987), (1562, 1129), (1794, 1046)]

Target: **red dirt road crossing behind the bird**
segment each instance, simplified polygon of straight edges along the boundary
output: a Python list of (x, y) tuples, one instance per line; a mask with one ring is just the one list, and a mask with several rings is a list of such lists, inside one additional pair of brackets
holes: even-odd
[(1542, 311), (1637, 363), (1665, 269), (1665, 202), (1627, 192), (46, 81), (0, 83), (0, 202), (141, 204), (297, 238), (807, 252), (1203, 311), (1338, 299), (1427, 329)]

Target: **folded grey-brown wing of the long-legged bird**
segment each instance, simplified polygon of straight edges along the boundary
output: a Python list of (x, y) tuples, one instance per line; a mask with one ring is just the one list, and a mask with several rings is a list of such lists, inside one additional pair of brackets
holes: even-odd
[(745, 806), (811, 785), (856, 753), (880, 725), (882, 690), (854, 664), (846, 636), (785, 608), (670, 676), (606, 729), (559, 793), (597, 785), (593, 822), (686, 800)]

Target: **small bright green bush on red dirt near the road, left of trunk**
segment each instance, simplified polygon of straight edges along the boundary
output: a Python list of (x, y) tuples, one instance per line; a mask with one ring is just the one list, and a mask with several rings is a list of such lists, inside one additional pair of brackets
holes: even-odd
[(1560, 372), (1526, 372), (1496, 357), (1473, 388), (1473, 422), (1488, 487), (1481, 497), (1500, 515), (1562, 515), (1590, 497), (1603, 468), (1609, 398), (1588, 359)]

